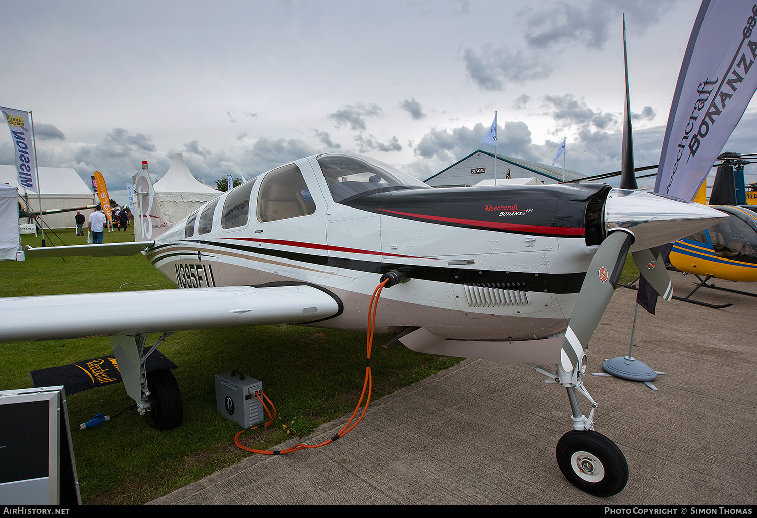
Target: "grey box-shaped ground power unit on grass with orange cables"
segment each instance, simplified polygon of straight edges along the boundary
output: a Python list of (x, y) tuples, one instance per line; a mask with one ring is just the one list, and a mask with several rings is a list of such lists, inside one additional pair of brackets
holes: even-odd
[(216, 410), (242, 428), (251, 428), (265, 420), (263, 404), (255, 392), (263, 391), (263, 382), (236, 370), (216, 374)]

